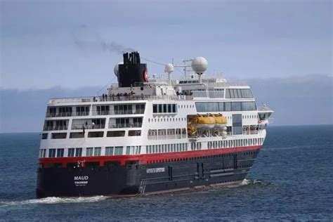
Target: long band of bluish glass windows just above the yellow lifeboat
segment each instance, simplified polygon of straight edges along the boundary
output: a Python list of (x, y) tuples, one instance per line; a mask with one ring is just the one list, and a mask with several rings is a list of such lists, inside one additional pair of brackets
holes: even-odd
[(256, 110), (256, 102), (197, 102), (197, 112), (250, 111)]

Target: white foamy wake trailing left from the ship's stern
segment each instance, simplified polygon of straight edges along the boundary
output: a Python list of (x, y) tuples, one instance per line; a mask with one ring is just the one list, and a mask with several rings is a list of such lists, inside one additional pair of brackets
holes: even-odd
[(94, 197), (46, 197), (41, 199), (32, 200), (18, 200), (18, 201), (0, 201), (0, 207), (13, 206), (13, 205), (25, 205), (25, 204), (67, 204), (67, 203), (81, 203), (81, 202), (99, 202), (105, 200), (108, 197), (94, 196)]

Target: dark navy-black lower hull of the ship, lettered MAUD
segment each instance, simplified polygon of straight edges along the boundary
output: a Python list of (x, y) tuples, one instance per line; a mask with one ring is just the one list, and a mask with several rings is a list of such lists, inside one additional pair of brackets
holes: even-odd
[(259, 150), (154, 164), (39, 168), (37, 197), (145, 195), (240, 183)]

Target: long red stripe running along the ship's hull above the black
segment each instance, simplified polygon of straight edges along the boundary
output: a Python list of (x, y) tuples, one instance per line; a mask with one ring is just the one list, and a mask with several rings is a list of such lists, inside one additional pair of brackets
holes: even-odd
[(143, 154), (143, 155), (118, 155), (118, 156), (98, 156), (98, 157), (51, 157), (51, 158), (39, 158), (38, 162), (39, 164), (61, 163), (63, 167), (66, 167), (67, 163), (73, 163), (73, 162), (99, 162), (100, 166), (104, 166), (104, 162), (107, 161), (119, 161), (121, 165), (125, 165), (126, 161), (139, 161), (140, 164), (152, 164), (157, 162), (177, 161), (184, 158), (221, 155), (233, 152), (244, 152), (244, 151), (258, 150), (258, 149), (261, 149), (261, 145), (247, 146), (242, 148), (192, 150), (185, 152), (164, 152), (164, 153)]

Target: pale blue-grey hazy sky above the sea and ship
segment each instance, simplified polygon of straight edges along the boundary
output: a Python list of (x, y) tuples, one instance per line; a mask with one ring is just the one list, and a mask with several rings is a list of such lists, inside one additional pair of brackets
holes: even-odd
[[(4, 95), (21, 93), (15, 100), (20, 104), (32, 93), (45, 112), (47, 98), (37, 93), (93, 93), (116, 81), (113, 68), (122, 61), (121, 51), (133, 49), (163, 64), (204, 56), (208, 76), (222, 73), (230, 80), (270, 86), (278, 79), (291, 86), (287, 92), (281, 86), (279, 93), (292, 98), (303, 96), (292, 86), (319, 84), (320, 89), (323, 83), (315, 79), (325, 79), (326, 97), (315, 99), (332, 124), (332, 1), (2, 0), (0, 10), (0, 131), (8, 131), (4, 121), (11, 107)], [(150, 77), (165, 75), (163, 65), (147, 63)], [(287, 98), (273, 100), (269, 95), (277, 92), (267, 90), (265, 100)], [(44, 115), (39, 118), (43, 122)], [(306, 122), (303, 118), (291, 123)], [(22, 130), (18, 125), (10, 131)], [(41, 129), (40, 123), (31, 127)]]

